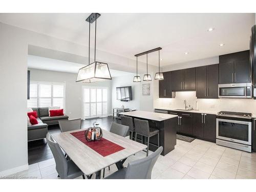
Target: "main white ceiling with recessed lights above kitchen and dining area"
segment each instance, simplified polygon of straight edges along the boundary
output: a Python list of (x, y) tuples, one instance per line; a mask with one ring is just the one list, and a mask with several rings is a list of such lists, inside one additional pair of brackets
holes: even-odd
[[(0, 13), (0, 21), (88, 45), (89, 14)], [(136, 53), (162, 47), (161, 64), (170, 65), (247, 50), (254, 24), (254, 13), (102, 13), (97, 20), (97, 49), (135, 59)], [(208, 32), (210, 27), (215, 30)], [(148, 62), (158, 65), (157, 57), (148, 55)]]

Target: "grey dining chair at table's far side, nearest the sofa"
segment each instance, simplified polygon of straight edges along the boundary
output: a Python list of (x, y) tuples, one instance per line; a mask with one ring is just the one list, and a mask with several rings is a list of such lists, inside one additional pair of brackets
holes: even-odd
[(59, 120), (59, 129), (61, 132), (68, 132), (81, 129), (81, 119)]

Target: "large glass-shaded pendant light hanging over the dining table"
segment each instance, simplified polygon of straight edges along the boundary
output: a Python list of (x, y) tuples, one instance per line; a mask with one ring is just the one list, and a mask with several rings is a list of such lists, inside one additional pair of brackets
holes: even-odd
[[(108, 63), (96, 61), (96, 26), (99, 13), (92, 13), (86, 21), (89, 22), (89, 62), (86, 67), (79, 69), (76, 82), (97, 82), (106, 79), (112, 79)], [(95, 39), (94, 39), (94, 62), (90, 63), (90, 33), (91, 24), (95, 22)]]

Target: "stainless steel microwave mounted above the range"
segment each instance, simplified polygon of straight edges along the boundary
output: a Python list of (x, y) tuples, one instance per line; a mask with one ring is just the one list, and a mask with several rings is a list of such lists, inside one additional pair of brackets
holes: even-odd
[(251, 83), (219, 84), (219, 98), (252, 98)]

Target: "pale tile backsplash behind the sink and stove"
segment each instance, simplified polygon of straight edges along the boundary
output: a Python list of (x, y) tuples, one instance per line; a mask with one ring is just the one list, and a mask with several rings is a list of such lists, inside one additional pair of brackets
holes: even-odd
[(184, 100), (187, 106), (205, 111), (236, 111), (256, 114), (256, 100), (254, 99), (197, 99), (195, 91), (176, 92), (175, 98), (157, 98), (154, 100), (154, 108), (184, 109)]

